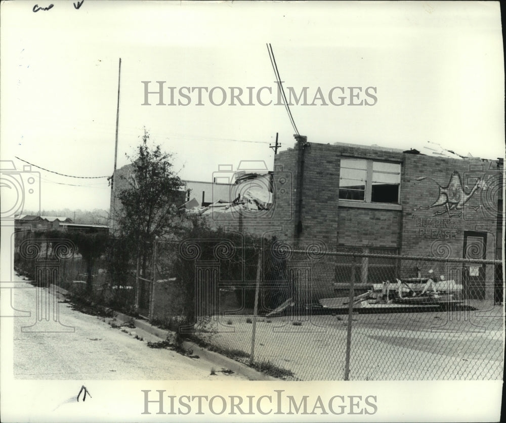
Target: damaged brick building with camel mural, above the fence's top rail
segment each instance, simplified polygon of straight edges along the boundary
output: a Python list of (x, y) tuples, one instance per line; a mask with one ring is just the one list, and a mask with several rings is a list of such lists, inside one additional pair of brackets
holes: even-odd
[[(217, 226), (276, 235), (300, 249), (318, 242), (327, 250), (500, 260), (502, 177), (502, 160), (437, 150), (309, 144), (301, 137), (293, 149), (275, 156), (271, 210), (217, 214), (212, 220)], [(469, 272), (481, 286), (477, 297), (492, 297), (493, 287), (484, 281), (497, 280), (501, 266), (458, 267), (453, 278)], [(402, 265), (391, 270), (416, 276)], [(371, 265), (364, 282), (386, 274)], [(320, 275), (315, 283), (328, 288), (332, 278)]]

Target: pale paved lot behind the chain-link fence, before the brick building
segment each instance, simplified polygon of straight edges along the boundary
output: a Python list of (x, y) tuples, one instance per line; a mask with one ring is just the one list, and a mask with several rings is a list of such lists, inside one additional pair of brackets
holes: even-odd
[[(486, 310), (485, 310), (486, 309)], [(251, 351), (252, 316), (215, 317), (202, 333), (222, 348)], [(342, 380), (348, 317), (259, 317), (255, 360), (294, 373), (291, 380)], [(356, 314), (352, 320), (351, 380), (502, 379), (502, 306), (480, 310)]]

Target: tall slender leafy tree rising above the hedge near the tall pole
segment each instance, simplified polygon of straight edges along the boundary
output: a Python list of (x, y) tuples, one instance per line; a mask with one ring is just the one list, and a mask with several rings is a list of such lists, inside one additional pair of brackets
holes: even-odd
[(146, 277), (156, 237), (167, 238), (181, 228), (183, 210), (178, 205), (184, 202), (183, 182), (173, 170), (172, 155), (159, 145), (149, 146), (148, 140), (144, 130), (137, 155), (127, 156), (132, 173), (127, 188), (117, 194), (121, 206), (116, 210), (118, 235), (135, 249), (142, 277)]

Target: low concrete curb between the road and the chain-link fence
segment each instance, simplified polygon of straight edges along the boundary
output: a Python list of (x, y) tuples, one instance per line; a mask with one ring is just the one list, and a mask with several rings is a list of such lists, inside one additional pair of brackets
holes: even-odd
[[(121, 320), (123, 322), (129, 322), (133, 320), (136, 327), (145, 330), (146, 332), (151, 333), (152, 335), (155, 335), (162, 340), (165, 340), (167, 335), (170, 333), (170, 331), (155, 327), (144, 320), (132, 319), (132, 317), (123, 313), (114, 312), (114, 315), (118, 320)], [(216, 364), (217, 367), (230, 369), (235, 373), (246, 376), (250, 380), (281, 380), (277, 379), (276, 377), (269, 376), (267, 374), (259, 372), (229, 357), (225, 357), (214, 351), (208, 351), (205, 348), (201, 348), (194, 342), (184, 341), (183, 346), (188, 350), (193, 350), (193, 354), (197, 354), (198, 356)]]

